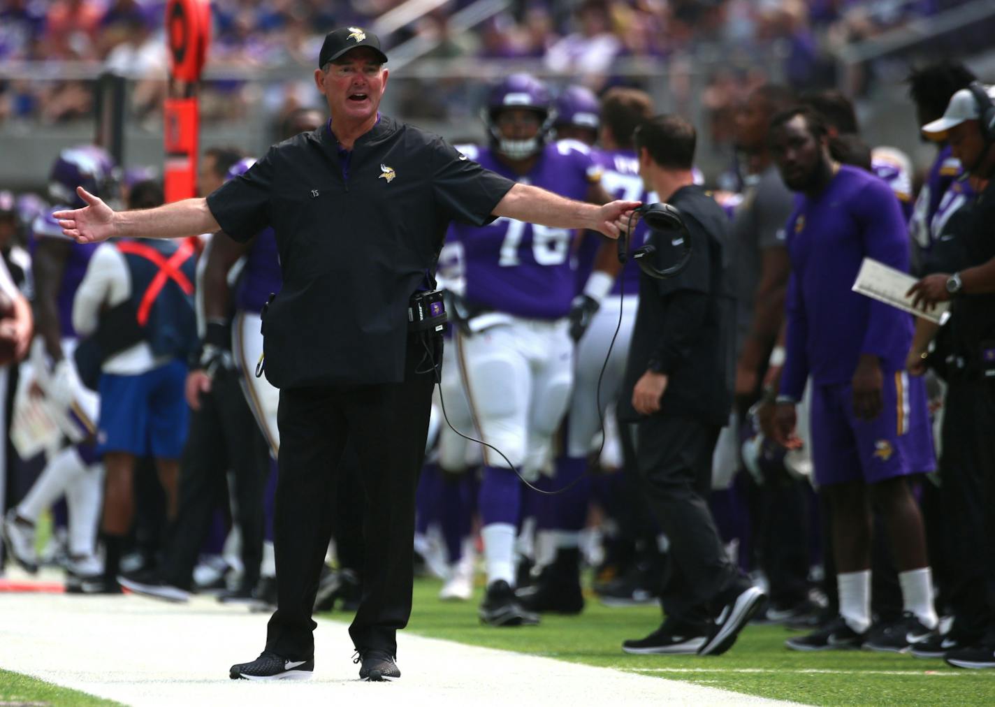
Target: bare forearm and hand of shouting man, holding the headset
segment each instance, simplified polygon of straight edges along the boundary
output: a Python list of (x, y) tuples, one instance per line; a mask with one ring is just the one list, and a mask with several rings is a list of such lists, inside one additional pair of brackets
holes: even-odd
[(639, 206), (638, 201), (613, 201), (604, 206), (585, 204), (545, 189), (516, 183), (497, 202), (493, 213), (530, 224), (557, 229), (588, 229), (608, 238), (618, 238), (619, 231), (625, 230), (630, 213)]

